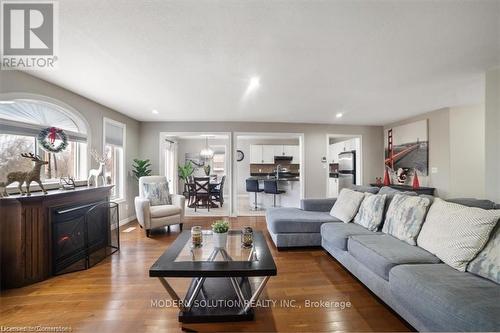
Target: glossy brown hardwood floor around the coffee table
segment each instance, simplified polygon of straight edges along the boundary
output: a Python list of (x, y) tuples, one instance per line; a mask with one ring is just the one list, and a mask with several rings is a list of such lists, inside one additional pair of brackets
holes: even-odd
[[(208, 227), (214, 220), (188, 218), (184, 227)], [(263, 217), (231, 218), (231, 227), (265, 230)], [(57, 276), (24, 288), (2, 291), (0, 326), (64, 326), (78, 332), (176, 332), (176, 331), (409, 331), (411, 328), (373, 296), (322, 249), (276, 251), (267, 241), (278, 267), (261, 299), (295, 300), (301, 308), (257, 308), (255, 321), (216, 324), (181, 324), (174, 307), (154, 307), (155, 300), (169, 300), (157, 279), (149, 278), (151, 264), (173, 242), (170, 233), (146, 238), (136, 222), (122, 227), (121, 250), (97, 266)], [(170, 279), (182, 295), (188, 279)], [(258, 283), (259, 280), (253, 281)], [(350, 302), (350, 308), (306, 308), (306, 300)], [(159, 302), (160, 303), (160, 302)]]

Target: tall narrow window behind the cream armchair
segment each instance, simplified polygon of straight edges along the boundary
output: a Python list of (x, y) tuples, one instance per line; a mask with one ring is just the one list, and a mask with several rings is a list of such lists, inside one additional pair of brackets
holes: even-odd
[(111, 198), (125, 199), (125, 124), (104, 118), (104, 154), (107, 161), (104, 177), (114, 184)]

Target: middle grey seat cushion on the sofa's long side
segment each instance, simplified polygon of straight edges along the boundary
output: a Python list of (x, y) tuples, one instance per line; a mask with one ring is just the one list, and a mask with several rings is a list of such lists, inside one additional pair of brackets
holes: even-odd
[(386, 280), (396, 265), (440, 262), (433, 254), (390, 235), (352, 236), (347, 249), (359, 262)]

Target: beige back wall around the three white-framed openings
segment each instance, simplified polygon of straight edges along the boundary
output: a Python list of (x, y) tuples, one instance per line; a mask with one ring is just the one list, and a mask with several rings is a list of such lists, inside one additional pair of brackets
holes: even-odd
[[(153, 162), (154, 172), (158, 172), (158, 152), (160, 132), (234, 132), (243, 133), (304, 133), (305, 196), (325, 197), (327, 173), (321, 158), (326, 156), (327, 134), (357, 134), (363, 142), (363, 182), (368, 184), (382, 175), (383, 132), (380, 126), (342, 126), (293, 123), (239, 123), (239, 122), (143, 122), (140, 125), (141, 157)], [(235, 175), (233, 174), (233, 177)], [(234, 178), (233, 178), (234, 179)], [(236, 180), (236, 179), (234, 179)], [(236, 191), (236, 188), (235, 188)]]

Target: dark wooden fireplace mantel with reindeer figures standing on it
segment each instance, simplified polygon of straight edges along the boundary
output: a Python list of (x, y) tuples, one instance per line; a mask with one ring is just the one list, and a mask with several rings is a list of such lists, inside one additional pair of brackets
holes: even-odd
[(50, 210), (108, 201), (112, 187), (85, 186), (1, 198), (1, 288), (22, 287), (52, 276)]

